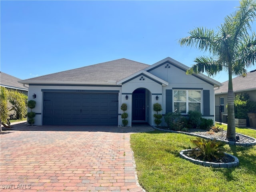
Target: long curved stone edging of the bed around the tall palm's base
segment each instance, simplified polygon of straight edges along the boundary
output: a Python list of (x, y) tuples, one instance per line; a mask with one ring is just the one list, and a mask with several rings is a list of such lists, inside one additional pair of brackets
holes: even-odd
[[(181, 134), (185, 134), (185, 135), (190, 135), (190, 136), (198, 136), (198, 137), (201, 137), (201, 138), (204, 138), (204, 139), (210, 139), (210, 140), (214, 140), (212, 138), (208, 138), (208, 137), (204, 137), (204, 136), (201, 136), (201, 135), (198, 135), (198, 134), (195, 134), (195, 133), (188, 133), (188, 132), (183, 132), (183, 131), (174, 131), (174, 130), (165, 130), (165, 129), (160, 129), (160, 128), (157, 128), (155, 126), (152, 126), (154, 129), (157, 129), (157, 130), (160, 130), (160, 131), (166, 131), (166, 132), (170, 132), (170, 133), (181, 133)], [(240, 133), (236, 133), (238, 135), (242, 135), (242, 136), (246, 136), (246, 137), (249, 137), (247, 135), (243, 135), (243, 134), (240, 134)], [(236, 142), (232, 142), (232, 141), (224, 141), (224, 140), (220, 140), (222, 142), (224, 142), (225, 144), (229, 144), (229, 145), (238, 145), (238, 146), (254, 146), (256, 145), (256, 140), (255, 138), (253, 137), (249, 137), (249, 138), (252, 138), (254, 139), (254, 142), (252, 143), (236, 143)]]

